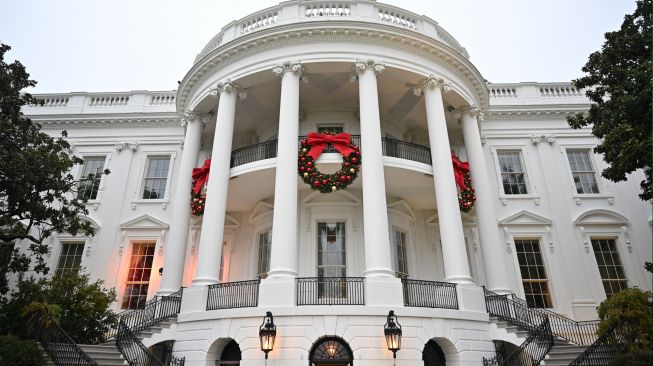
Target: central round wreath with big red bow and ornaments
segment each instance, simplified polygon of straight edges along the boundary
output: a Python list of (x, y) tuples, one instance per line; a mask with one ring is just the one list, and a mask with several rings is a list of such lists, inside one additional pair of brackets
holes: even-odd
[[(297, 158), (297, 173), (311, 189), (330, 193), (347, 188), (358, 177), (361, 165), (361, 153), (358, 146), (351, 143), (348, 133), (309, 132), (301, 141)], [(324, 174), (315, 166), (315, 161), (322, 154), (327, 144), (331, 144), (342, 154), (342, 166), (333, 174)]]

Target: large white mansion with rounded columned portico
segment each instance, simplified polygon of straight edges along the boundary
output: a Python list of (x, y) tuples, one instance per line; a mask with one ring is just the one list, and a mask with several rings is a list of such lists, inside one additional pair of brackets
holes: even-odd
[[(177, 91), (37, 97), (25, 114), (68, 131), (85, 160), (74, 174), (111, 170), (81, 190), (97, 235), (54, 238), (51, 268), (81, 263), (115, 286), (116, 311), (185, 287), (176, 320), (143, 343), (174, 340), (186, 365), (263, 365), (267, 311), (268, 365), (322, 365), (332, 345), (346, 354), (335, 364), (391, 365), (390, 310), (403, 327), (397, 365), (439, 364), (422, 356), (440, 351), (481, 365), (494, 341), (525, 339), (490, 321), (481, 286), (574, 320), (595, 319), (621, 288), (651, 289), (643, 175), (601, 177), (597, 139), (565, 120), (588, 108), (583, 92), (488, 84), (426, 16), (286, 1), (227, 24)], [(362, 155), (358, 178), (332, 193), (297, 175), (298, 139), (324, 130), (352, 134)], [(467, 213), (450, 151), (471, 166)], [(207, 158), (194, 216), (191, 173)], [(326, 152), (317, 165), (341, 162)], [(240, 363), (225, 362), (234, 354)]]

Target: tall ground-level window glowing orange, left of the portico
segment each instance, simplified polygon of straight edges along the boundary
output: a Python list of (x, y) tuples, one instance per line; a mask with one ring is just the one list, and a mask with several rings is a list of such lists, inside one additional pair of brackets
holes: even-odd
[(152, 260), (154, 259), (153, 242), (135, 242), (132, 244), (132, 254), (129, 261), (129, 271), (122, 298), (123, 309), (142, 309), (147, 300), (147, 290), (150, 286)]

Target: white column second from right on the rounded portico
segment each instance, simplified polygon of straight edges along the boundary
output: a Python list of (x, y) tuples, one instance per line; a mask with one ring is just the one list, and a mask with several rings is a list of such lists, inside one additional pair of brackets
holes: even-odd
[(421, 95), (424, 92), (424, 104), (426, 104), (426, 122), (431, 145), (445, 281), (471, 284), (463, 224), (458, 207), (458, 191), (451, 162), (451, 146), (444, 114), (442, 99), (444, 87), (444, 80), (429, 76), (422, 80), (414, 91), (416, 95)]

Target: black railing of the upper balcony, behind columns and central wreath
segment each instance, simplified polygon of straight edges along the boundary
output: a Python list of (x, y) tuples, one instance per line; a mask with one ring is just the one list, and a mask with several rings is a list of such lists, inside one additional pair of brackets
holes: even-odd
[[(301, 141), (305, 138), (306, 136), (300, 136), (299, 140)], [(351, 142), (357, 146), (360, 146), (360, 135), (352, 135)], [(381, 144), (383, 148), (383, 156), (431, 165), (431, 149), (428, 146), (417, 145), (410, 142), (385, 137), (381, 139)], [(324, 149), (324, 152), (336, 153), (337, 151), (331, 145), (329, 145), (326, 149)], [(240, 165), (245, 165), (265, 159), (272, 159), (275, 157), (277, 157), (277, 140), (265, 141), (258, 144), (241, 147), (232, 151), (231, 167), (234, 168)]]

